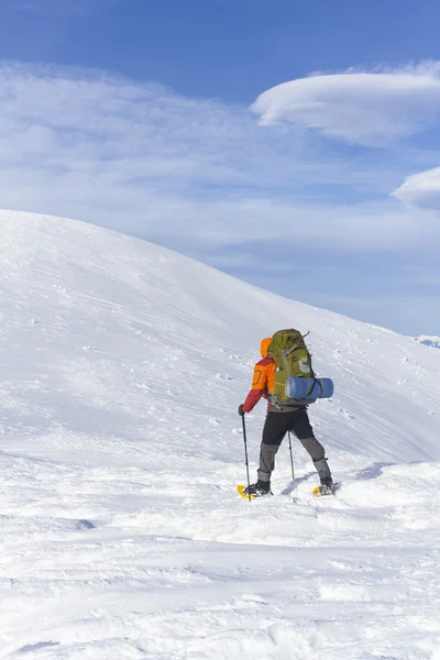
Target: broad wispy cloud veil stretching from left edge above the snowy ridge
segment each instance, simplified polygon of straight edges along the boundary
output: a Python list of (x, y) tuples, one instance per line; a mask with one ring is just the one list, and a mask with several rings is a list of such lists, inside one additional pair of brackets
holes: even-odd
[[(369, 180), (246, 108), (84, 70), (0, 68), (0, 207), (179, 245), (295, 241), (386, 249), (432, 240), (397, 200), (318, 204), (301, 186)], [(377, 174), (375, 174), (377, 176)], [(200, 248), (201, 250), (201, 248)]]

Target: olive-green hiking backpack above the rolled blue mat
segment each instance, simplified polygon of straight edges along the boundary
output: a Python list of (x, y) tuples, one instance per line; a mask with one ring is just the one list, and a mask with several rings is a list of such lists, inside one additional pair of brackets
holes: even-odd
[(314, 378), (315, 373), (311, 367), (311, 355), (306, 346), (304, 338), (299, 330), (278, 330), (272, 338), (267, 355), (273, 358), (276, 364), (274, 392), (272, 393), (276, 400), (289, 403), (290, 399), (285, 394), (286, 381), (290, 377)]

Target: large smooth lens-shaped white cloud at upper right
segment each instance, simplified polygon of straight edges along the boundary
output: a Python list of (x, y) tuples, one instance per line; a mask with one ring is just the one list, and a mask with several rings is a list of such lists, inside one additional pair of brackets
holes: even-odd
[(388, 145), (440, 119), (440, 63), (316, 74), (262, 94), (263, 125), (290, 123), (349, 143)]

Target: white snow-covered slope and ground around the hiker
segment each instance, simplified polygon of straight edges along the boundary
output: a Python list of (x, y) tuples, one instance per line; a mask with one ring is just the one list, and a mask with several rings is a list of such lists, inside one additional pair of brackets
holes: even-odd
[[(89, 224), (0, 221), (0, 658), (440, 659), (440, 352)], [(312, 498), (297, 442), (293, 486), (286, 443), (250, 504), (237, 406), (292, 326), (336, 382), (310, 416), (342, 487)]]

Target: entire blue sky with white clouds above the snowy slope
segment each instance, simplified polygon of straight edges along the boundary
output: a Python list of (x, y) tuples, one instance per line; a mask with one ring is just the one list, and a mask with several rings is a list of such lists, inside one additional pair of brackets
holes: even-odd
[(0, 0), (0, 207), (440, 333), (437, 0)]

